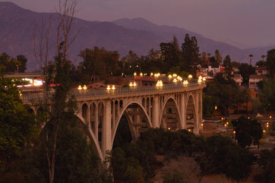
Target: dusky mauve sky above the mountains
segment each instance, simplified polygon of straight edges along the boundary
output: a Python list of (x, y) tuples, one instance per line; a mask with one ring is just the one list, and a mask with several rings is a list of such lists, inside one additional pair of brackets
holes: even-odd
[[(58, 4), (10, 1), (34, 12), (55, 12)], [(77, 9), (76, 16), (87, 21), (142, 17), (240, 48), (275, 45), (275, 0), (80, 0)]]

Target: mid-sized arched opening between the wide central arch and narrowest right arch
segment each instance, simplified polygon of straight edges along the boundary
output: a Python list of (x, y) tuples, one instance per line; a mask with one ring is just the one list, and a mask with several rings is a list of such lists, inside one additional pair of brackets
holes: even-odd
[(164, 106), (164, 110), (162, 112), (162, 119), (161, 119), (161, 127), (175, 132), (180, 130), (180, 118), (179, 118), (179, 111), (177, 109), (177, 105), (173, 99), (168, 99)]

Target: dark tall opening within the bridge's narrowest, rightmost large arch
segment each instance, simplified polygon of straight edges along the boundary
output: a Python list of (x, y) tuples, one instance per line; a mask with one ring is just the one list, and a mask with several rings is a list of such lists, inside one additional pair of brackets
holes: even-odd
[(196, 124), (196, 112), (195, 112), (195, 103), (192, 95), (188, 98), (186, 106), (186, 129), (193, 132), (197, 127)]

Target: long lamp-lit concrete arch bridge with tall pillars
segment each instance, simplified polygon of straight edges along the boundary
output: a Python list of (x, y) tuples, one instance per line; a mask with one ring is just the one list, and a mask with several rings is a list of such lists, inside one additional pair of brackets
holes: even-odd
[[(204, 82), (182, 82), (164, 86), (140, 86), (114, 90), (73, 90), (77, 117), (88, 127), (101, 160), (111, 150), (122, 116), (126, 117), (133, 141), (149, 127), (176, 131), (202, 130), (202, 89)], [(23, 103), (34, 114), (39, 110), (43, 93), (23, 93)]]

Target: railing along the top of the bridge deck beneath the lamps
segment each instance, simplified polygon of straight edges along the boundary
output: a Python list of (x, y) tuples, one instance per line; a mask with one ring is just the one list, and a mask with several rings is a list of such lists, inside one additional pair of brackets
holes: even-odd
[[(203, 83), (202, 83), (203, 84)], [(113, 96), (113, 95), (124, 95), (124, 94), (139, 94), (139, 93), (157, 93), (161, 91), (173, 91), (181, 90), (183, 88), (193, 88), (199, 86), (197, 82), (190, 82), (189, 84), (182, 84), (182, 82), (164, 84), (164, 86), (135, 86), (135, 87), (122, 87), (115, 88), (115, 90), (72, 90), (69, 95), (73, 95), (76, 99), (85, 99), (88, 97), (100, 97), (100, 96)], [(50, 91), (50, 94), (53, 94), (54, 90)], [(32, 101), (43, 101), (43, 93), (25, 93), (22, 96), (22, 100), (25, 103)]]

